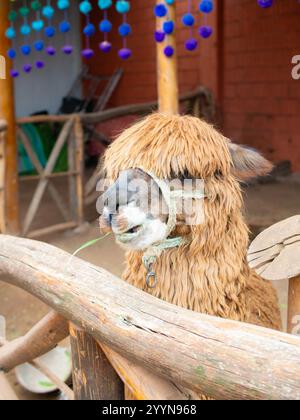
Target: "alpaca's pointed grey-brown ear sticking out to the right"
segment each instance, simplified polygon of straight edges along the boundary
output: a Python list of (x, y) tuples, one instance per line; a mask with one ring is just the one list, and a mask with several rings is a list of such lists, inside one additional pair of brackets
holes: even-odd
[(273, 169), (272, 163), (255, 149), (230, 142), (229, 150), (232, 157), (233, 173), (240, 180), (265, 176)]

